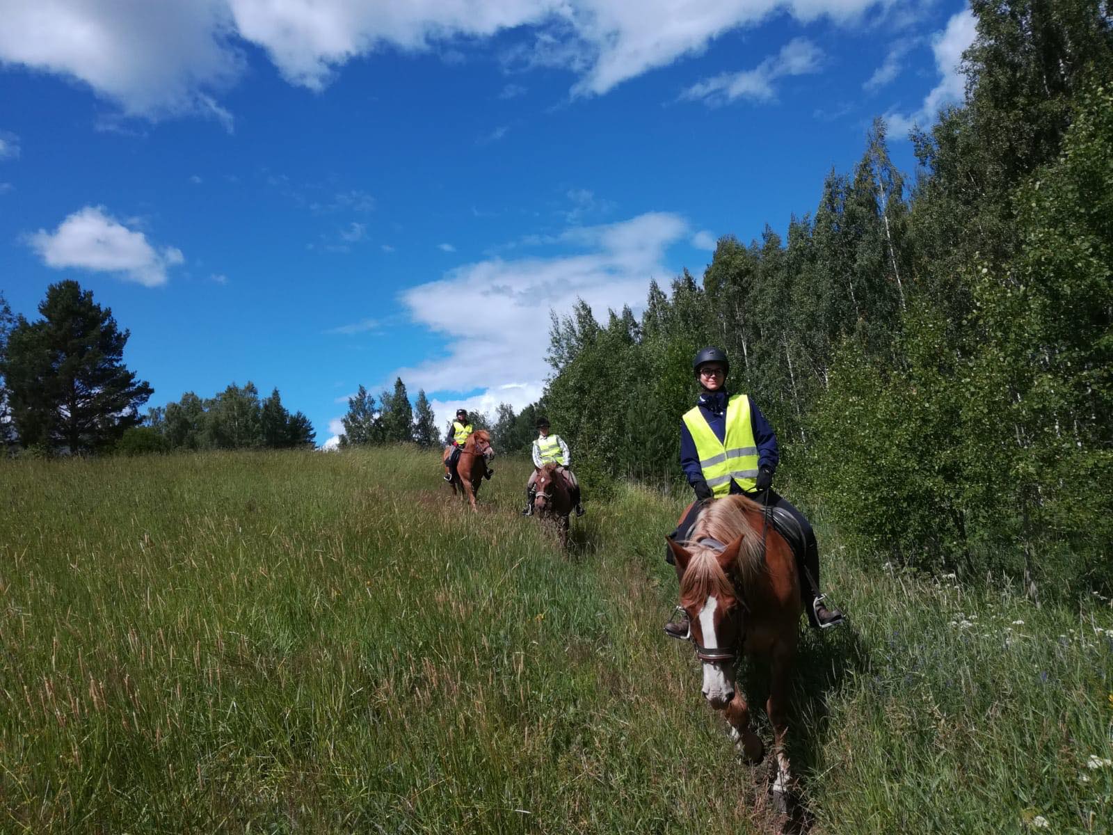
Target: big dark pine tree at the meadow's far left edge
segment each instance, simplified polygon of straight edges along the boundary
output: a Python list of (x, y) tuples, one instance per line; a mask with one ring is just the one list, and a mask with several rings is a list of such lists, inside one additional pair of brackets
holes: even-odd
[(122, 364), (128, 331), (73, 281), (47, 288), (42, 320), (20, 316), (8, 338), (3, 376), (23, 446), (71, 453), (111, 448), (138, 425), (154, 390)]

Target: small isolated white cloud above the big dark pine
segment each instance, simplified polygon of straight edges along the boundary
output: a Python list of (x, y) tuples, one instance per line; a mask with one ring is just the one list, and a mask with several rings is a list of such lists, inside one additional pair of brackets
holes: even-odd
[(144, 233), (127, 228), (102, 206), (86, 206), (53, 233), (39, 229), (27, 239), (47, 266), (119, 273), (147, 287), (166, 284), (167, 268), (185, 262), (179, 249), (156, 249)]

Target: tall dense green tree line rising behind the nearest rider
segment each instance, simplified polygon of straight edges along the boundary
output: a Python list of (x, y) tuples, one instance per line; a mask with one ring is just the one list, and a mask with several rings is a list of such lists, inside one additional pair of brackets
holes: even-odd
[(778, 433), (778, 484), (851, 542), (1109, 590), (1113, 16), (971, 8), (965, 102), (913, 131), (914, 177), (878, 120), (785, 237), (721, 238), (640, 317), (554, 317), (544, 402), (579, 466), (674, 477), (691, 356), (716, 344)]

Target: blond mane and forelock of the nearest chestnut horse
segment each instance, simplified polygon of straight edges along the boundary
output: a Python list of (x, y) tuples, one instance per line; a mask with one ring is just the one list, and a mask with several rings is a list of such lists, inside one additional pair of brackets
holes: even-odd
[[(743, 495), (728, 495), (709, 502), (700, 511), (688, 534), (688, 541), (682, 543), (691, 553), (691, 560), (680, 580), (681, 603), (699, 606), (711, 596), (719, 600), (735, 597), (743, 601), (747, 599), (754, 583), (767, 573), (761, 532), (755, 530), (749, 520), (751, 512), (760, 510), (757, 502)], [(721, 550), (707, 542), (707, 539), (729, 546), (739, 538), (742, 541), (735, 562), (738, 577), (736, 588), (719, 566)]]

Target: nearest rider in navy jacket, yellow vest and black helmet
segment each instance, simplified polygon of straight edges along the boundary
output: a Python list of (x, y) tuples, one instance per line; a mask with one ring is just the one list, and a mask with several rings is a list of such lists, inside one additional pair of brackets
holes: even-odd
[[(805, 541), (800, 573), (800, 595), (808, 621), (819, 629), (843, 622), (838, 609), (828, 609), (819, 592), (819, 551), (816, 534), (805, 515), (772, 490), (772, 474), (780, 460), (772, 426), (746, 394), (730, 394), (726, 389), (730, 363), (717, 347), (696, 354), (692, 371), (702, 389), (696, 406), (680, 422), (680, 466), (699, 500), (672, 534), (683, 542), (696, 522), (703, 500), (739, 493), (780, 508), (799, 524)], [(672, 562), (672, 552), (666, 556)], [(672, 638), (688, 636), (688, 617), (670, 621), (664, 631)]]

